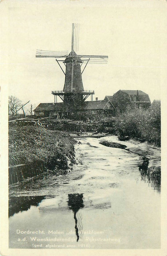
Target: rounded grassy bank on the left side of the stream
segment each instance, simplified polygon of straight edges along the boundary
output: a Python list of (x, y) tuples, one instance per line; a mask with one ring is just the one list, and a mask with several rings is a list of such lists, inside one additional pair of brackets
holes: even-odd
[(9, 127), (9, 180), (14, 183), (46, 169), (67, 169), (75, 162), (74, 144), (69, 135), (60, 131)]

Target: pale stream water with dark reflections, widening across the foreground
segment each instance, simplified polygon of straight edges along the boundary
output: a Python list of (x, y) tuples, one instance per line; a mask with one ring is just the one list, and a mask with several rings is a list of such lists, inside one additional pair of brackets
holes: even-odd
[(9, 248), (160, 248), (160, 185), (141, 173), (141, 155), (104, 140), (160, 166), (160, 150), (146, 143), (78, 138), (70, 172), (10, 186)]

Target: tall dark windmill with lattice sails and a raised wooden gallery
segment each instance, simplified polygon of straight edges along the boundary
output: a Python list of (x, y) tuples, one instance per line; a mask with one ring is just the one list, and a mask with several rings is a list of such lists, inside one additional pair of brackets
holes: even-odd
[[(82, 74), (88, 63), (107, 63), (108, 56), (98, 55), (77, 55), (75, 52), (79, 49), (79, 24), (72, 23), (72, 44), (71, 52), (67, 51), (45, 51), (36, 50), (36, 57), (39, 58), (55, 58), (56, 62), (65, 75), (65, 82), (63, 90), (52, 91), (55, 96), (55, 103), (57, 96), (64, 102), (65, 112), (70, 112), (71, 107), (80, 106), (90, 95), (91, 101), (93, 100), (94, 91), (84, 91)], [(67, 55), (68, 54), (68, 55)], [(59, 59), (59, 60), (57, 60)], [(62, 68), (65, 65), (65, 72)], [(84, 68), (81, 71), (81, 66)]]

